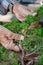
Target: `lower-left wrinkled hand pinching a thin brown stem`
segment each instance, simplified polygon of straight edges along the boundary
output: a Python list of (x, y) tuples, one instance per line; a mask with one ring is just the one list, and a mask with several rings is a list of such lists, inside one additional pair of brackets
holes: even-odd
[(13, 42), (13, 39), (23, 40), (24, 36), (19, 35), (19, 34), (15, 34), (15, 33), (11, 32), (10, 30), (8, 30), (5, 27), (3, 27), (3, 26), (0, 25), (0, 43), (6, 49), (19, 52), (21, 50), (20, 46), (16, 45)]

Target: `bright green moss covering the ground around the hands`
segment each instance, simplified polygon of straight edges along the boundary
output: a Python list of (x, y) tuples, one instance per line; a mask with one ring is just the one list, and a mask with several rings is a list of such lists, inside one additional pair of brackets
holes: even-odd
[[(13, 19), (10, 23), (0, 23), (0, 25), (8, 28), (12, 32), (22, 34), (22, 29), (26, 29), (32, 22), (43, 19), (43, 6), (38, 8), (38, 16), (32, 17), (28, 15), (24, 22), (19, 22), (17, 19)], [(34, 36), (32, 36), (34, 35)], [(34, 51), (38, 48), (40, 56), (38, 57), (39, 62), (34, 65), (43, 65), (43, 28), (39, 25), (30, 31), (27, 31), (27, 36), (23, 41), (16, 41), (17, 44), (21, 44), (24, 50)], [(36, 48), (35, 48), (36, 46)], [(9, 60), (9, 62), (5, 62)], [(16, 58), (16, 53), (13, 51), (6, 50), (2, 45), (0, 45), (0, 65), (20, 65)]]

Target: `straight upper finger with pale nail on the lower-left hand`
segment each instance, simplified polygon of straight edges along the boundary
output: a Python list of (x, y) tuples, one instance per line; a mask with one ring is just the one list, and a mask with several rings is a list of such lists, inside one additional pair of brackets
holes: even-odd
[(23, 35), (19, 35), (17, 33), (13, 33), (7, 28), (0, 25), (0, 35), (6, 36), (8, 39), (16, 39), (16, 40), (24, 40)]

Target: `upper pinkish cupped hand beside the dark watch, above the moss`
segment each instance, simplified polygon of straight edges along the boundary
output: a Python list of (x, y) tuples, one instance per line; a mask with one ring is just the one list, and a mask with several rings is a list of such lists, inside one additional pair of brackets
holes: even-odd
[(18, 20), (23, 21), (25, 19), (26, 15), (32, 15), (35, 16), (37, 13), (32, 13), (28, 7), (23, 6), (19, 3), (16, 3), (13, 7), (13, 13), (17, 17)]

